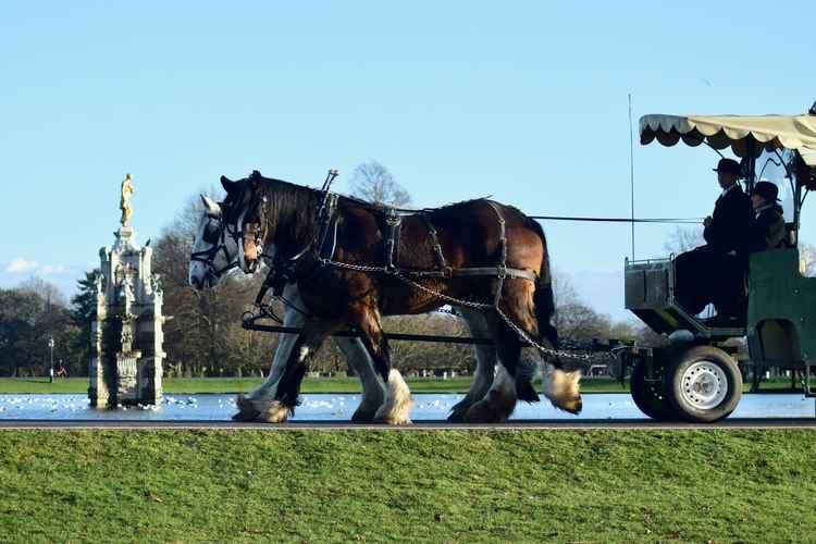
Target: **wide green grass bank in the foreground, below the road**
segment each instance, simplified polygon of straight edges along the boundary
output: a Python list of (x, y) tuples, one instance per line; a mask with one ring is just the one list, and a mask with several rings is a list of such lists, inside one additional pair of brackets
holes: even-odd
[(816, 433), (3, 431), (0, 540), (784, 542)]

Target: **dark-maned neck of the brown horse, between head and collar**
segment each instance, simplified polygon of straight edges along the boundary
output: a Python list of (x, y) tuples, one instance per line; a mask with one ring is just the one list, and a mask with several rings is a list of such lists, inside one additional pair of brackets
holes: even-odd
[(269, 186), (271, 213), (269, 228), (281, 256), (289, 258), (299, 252), (314, 236), (319, 194), (309, 187), (286, 182)]

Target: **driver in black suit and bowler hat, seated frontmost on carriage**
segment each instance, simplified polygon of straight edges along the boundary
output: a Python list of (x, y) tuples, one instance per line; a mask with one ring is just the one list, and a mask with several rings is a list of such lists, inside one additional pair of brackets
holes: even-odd
[[(751, 199), (738, 183), (740, 163), (721, 159), (714, 169), (722, 193), (714, 205), (714, 213), (705, 218), (703, 237), (706, 245), (681, 254), (675, 259), (675, 298), (692, 316), (710, 302), (718, 316), (740, 316), (742, 304), (732, 300), (744, 286), (743, 259), (738, 255), (744, 246), (744, 233), (753, 221)], [(731, 304), (733, 302), (733, 304)]]

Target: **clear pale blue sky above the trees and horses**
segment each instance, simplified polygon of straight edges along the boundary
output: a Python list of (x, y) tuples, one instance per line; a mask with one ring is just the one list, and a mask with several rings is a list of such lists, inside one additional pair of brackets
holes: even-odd
[[(259, 170), (319, 186), (387, 166), (418, 207), (492, 196), (533, 215), (702, 218), (705, 147), (638, 144), (646, 113), (803, 113), (813, 5), (768, 2), (3, 2), (0, 287), (72, 294), (133, 175), (139, 242)], [(805, 209), (803, 238), (816, 242)], [(553, 265), (622, 308), (625, 224), (545, 222)], [(668, 225), (641, 225), (660, 257)]]

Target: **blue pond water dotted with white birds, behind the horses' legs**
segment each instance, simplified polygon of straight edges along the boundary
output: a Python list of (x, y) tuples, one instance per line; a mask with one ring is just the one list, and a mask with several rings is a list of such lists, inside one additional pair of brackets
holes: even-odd
[[(450, 407), (462, 398), (452, 394), (413, 395), (413, 420), (447, 418)], [(292, 421), (348, 421), (360, 395), (302, 395), (302, 405)], [(158, 407), (132, 407), (97, 410), (88, 406), (85, 395), (0, 395), (0, 419), (47, 420), (149, 420), (149, 421), (226, 421), (236, 412), (235, 395), (165, 395)], [(733, 418), (812, 418), (814, 399), (796, 394), (743, 395)], [(519, 403), (512, 420), (553, 419), (648, 419), (629, 395), (588, 394), (583, 396), (580, 416), (557, 410), (545, 399), (529, 405)]]

